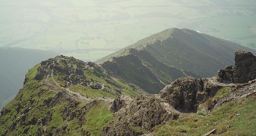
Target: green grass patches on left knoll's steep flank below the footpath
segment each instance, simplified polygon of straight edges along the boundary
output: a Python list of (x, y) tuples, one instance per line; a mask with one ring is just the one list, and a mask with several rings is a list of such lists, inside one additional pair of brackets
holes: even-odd
[[(41, 109), (37, 108), (38, 106), (41, 106), (43, 104), (44, 100), (48, 98), (54, 98), (56, 96), (56, 92), (52, 90), (47, 90), (45, 84), (42, 84), (43, 81), (34, 80), (34, 77), (37, 74), (37, 68), (39, 66), (40, 64), (29, 70), (29, 72), (26, 74), (28, 81), (24, 85), (24, 88), (21, 89), (17, 97), (9, 104), (7, 104), (4, 108), (4, 110), (9, 109), (11, 111), (6, 115), (0, 117), (0, 132), (2, 133), (5, 130), (8, 130), (12, 122), (17, 122), (17, 126), (15, 127), (15, 129), (13, 131), (8, 131), (8, 135), (24, 134), (23, 132), (26, 129), (28, 129), (27, 134), (36, 135), (38, 129), (42, 128), (40, 124), (36, 123), (21, 125), (20, 123), (18, 123), (19, 119), (17, 119), (17, 117), (22, 115), (22, 112), (25, 108), (31, 106), (33, 108), (26, 115), (26, 121), (24, 123), (27, 123), (33, 118), (40, 119), (44, 117), (48, 111), (50, 111), (52, 113), (52, 120), (48, 122), (45, 126), (45, 129), (48, 130), (48, 132), (51, 132), (55, 128), (62, 129), (63, 126), (68, 124), (66, 133), (64, 135), (81, 135), (81, 132), (87, 134), (90, 133), (91, 135), (99, 135), (101, 128), (113, 117), (112, 113), (107, 109), (107, 106), (102, 102), (98, 102), (96, 105), (89, 108), (88, 111), (86, 111), (83, 119), (84, 123), (80, 128), (77, 127), (80, 126), (78, 118), (74, 118), (73, 120), (64, 120), (64, 118), (62, 117), (61, 111), (69, 103), (69, 101), (64, 100), (61, 102), (57, 102), (53, 107), (43, 106)], [(53, 83), (50, 78), (48, 79), (48, 81)], [(60, 88), (56, 87), (51, 89), (58, 90)], [(43, 90), (42, 94), (38, 96), (38, 93), (41, 90)], [(29, 99), (31, 98), (35, 100), (32, 105), (29, 102)], [(21, 108), (19, 113), (17, 113), (17, 111), (15, 110), (18, 103), (23, 107)], [(82, 102), (78, 105), (77, 108), (81, 109), (84, 106), (85, 103)], [(74, 112), (77, 112), (77, 110), (74, 109)]]

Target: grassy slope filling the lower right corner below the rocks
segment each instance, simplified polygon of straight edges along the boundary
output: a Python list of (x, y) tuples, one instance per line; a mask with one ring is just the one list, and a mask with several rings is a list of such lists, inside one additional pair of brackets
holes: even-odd
[[(216, 135), (256, 135), (256, 96), (240, 99), (221, 106), (209, 117), (194, 113), (171, 120), (155, 130), (156, 136), (203, 135), (216, 128)], [(237, 114), (240, 115), (237, 115)]]

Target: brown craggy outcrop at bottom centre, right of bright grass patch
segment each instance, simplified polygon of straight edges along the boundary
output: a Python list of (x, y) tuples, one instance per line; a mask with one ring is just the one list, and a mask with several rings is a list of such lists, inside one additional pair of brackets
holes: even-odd
[[(116, 103), (114, 104), (116, 105)], [(109, 122), (109, 125), (102, 129), (101, 135), (142, 135), (156, 125), (161, 124), (166, 115), (167, 111), (154, 95), (138, 96), (128, 106), (121, 108), (114, 114), (114, 118)]]

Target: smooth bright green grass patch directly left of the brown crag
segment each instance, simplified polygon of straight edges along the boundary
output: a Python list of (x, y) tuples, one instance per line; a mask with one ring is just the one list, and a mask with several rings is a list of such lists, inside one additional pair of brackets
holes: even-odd
[(108, 110), (107, 105), (98, 102), (84, 115), (85, 123), (82, 129), (91, 136), (98, 136), (102, 127), (112, 118), (113, 114)]

